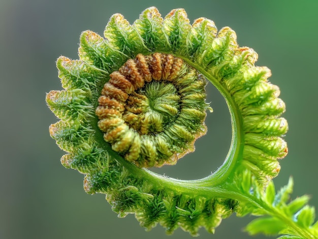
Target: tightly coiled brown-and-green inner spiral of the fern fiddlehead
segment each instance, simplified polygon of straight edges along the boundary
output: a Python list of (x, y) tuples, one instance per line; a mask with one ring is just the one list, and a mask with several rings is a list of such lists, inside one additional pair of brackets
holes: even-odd
[(96, 115), (104, 140), (140, 167), (176, 163), (206, 133), (205, 85), (180, 58), (138, 54), (102, 90)]

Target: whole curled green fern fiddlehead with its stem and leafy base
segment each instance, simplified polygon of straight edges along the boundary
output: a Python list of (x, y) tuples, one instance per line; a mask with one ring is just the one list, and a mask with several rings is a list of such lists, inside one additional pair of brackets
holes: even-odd
[[(84, 31), (80, 59), (58, 58), (65, 90), (46, 97), (61, 119), (50, 126), (68, 153), (61, 162), (85, 175), (86, 192), (104, 193), (119, 216), (134, 213), (141, 226), (160, 223), (168, 233), (214, 232), (235, 212), (264, 216), (247, 226), (251, 234), (318, 236), (308, 197), (288, 203), (292, 181), (275, 195), (271, 179), (287, 154), (285, 105), (270, 71), (255, 66), (257, 53), (239, 47), (232, 29), (217, 31), (205, 18), (190, 25), (182, 9), (162, 18), (152, 7), (132, 25), (113, 15), (104, 36)], [(176, 163), (205, 134), (205, 79), (232, 118), (224, 164), (199, 180), (152, 173), (146, 168)]]

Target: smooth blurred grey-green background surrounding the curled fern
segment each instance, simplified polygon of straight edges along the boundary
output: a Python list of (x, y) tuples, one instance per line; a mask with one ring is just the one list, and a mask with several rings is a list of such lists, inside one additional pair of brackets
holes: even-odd
[[(218, 29), (230, 26), (240, 46), (258, 52), (257, 65), (268, 66), (270, 81), (281, 89), (290, 125), (285, 137), (289, 155), (281, 161), (276, 187), (292, 175), (293, 197), (310, 194), (310, 203), (318, 207), (318, 1), (1, 0), (0, 238), (190, 238), (181, 229), (168, 236), (161, 226), (145, 232), (133, 215), (118, 219), (104, 195), (84, 192), (83, 175), (60, 164), (63, 152), (48, 132), (57, 119), (45, 104), (45, 94), (61, 89), (56, 58), (78, 59), (81, 31), (102, 35), (112, 14), (121, 13), (133, 23), (150, 6), (163, 16), (184, 8), (191, 22), (206, 17)], [(158, 172), (197, 179), (222, 163), (230, 146), (230, 118), (218, 92), (209, 86), (208, 93), (214, 109), (207, 118), (208, 134), (199, 139), (195, 153)], [(242, 228), (251, 219), (233, 215), (214, 235), (202, 229), (200, 238), (248, 238)]]

